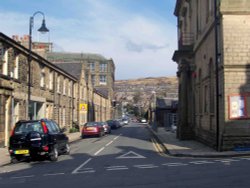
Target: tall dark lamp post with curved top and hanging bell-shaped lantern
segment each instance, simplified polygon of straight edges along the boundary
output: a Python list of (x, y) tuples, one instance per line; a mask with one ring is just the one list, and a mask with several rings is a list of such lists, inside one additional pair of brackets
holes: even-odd
[(49, 32), (49, 29), (47, 29), (45, 24), (45, 15), (41, 11), (37, 11), (33, 14), (33, 16), (30, 17), (30, 23), (29, 23), (29, 55), (28, 55), (28, 105), (27, 105), (27, 111), (28, 111), (28, 118), (32, 119), (32, 113), (31, 113), (31, 51), (32, 51), (32, 29), (34, 26), (34, 17), (37, 14), (41, 14), (43, 16), (43, 21), (41, 27), (38, 29), (41, 33), (47, 33)]

